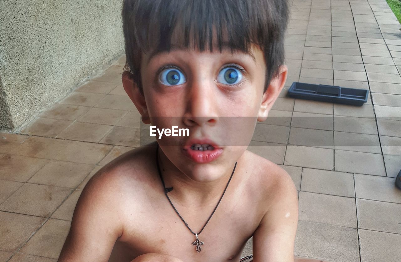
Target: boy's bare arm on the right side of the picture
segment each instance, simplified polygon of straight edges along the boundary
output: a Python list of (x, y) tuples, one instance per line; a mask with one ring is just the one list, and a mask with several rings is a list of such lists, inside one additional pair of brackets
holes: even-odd
[(294, 262), (298, 194), (290, 175), (280, 173), (269, 194), (271, 205), (253, 234), (254, 262)]

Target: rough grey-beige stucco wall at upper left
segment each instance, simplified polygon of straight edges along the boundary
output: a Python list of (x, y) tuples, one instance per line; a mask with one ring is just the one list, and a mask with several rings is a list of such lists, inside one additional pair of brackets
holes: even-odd
[(0, 130), (18, 129), (124, 50), (121, 0), (0, 0)]

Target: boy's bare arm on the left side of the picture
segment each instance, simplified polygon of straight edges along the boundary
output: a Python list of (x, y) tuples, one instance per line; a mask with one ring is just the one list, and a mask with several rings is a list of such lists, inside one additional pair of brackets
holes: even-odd
[(114, 243), (122, 234), (118, 199), (113, 195), (116, 182), (112, 177), (100, 169), (83, 189), (59, 262), (109, 260)]

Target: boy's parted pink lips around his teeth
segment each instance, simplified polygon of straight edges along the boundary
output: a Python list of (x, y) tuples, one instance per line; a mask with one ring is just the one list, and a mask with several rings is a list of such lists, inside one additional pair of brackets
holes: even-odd
[[(207, 151), (192, 150), (191, 146), (193, 144), (210, 144), (215, 149)], [(209, 163), (219, 158), (223, 153), (223, 149), (209, 139), (191, 139), (185, 144), (182, 152), (196, 163)]]

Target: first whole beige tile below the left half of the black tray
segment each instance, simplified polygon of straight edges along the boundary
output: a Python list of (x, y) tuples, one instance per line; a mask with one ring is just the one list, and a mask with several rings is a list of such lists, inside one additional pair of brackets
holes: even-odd
[(298, 128), (310, 128), (320, 130), (333, 130), (333, 116), (323, 114), (309, 114), (294, 112), (292, 114), (291, 126)]

